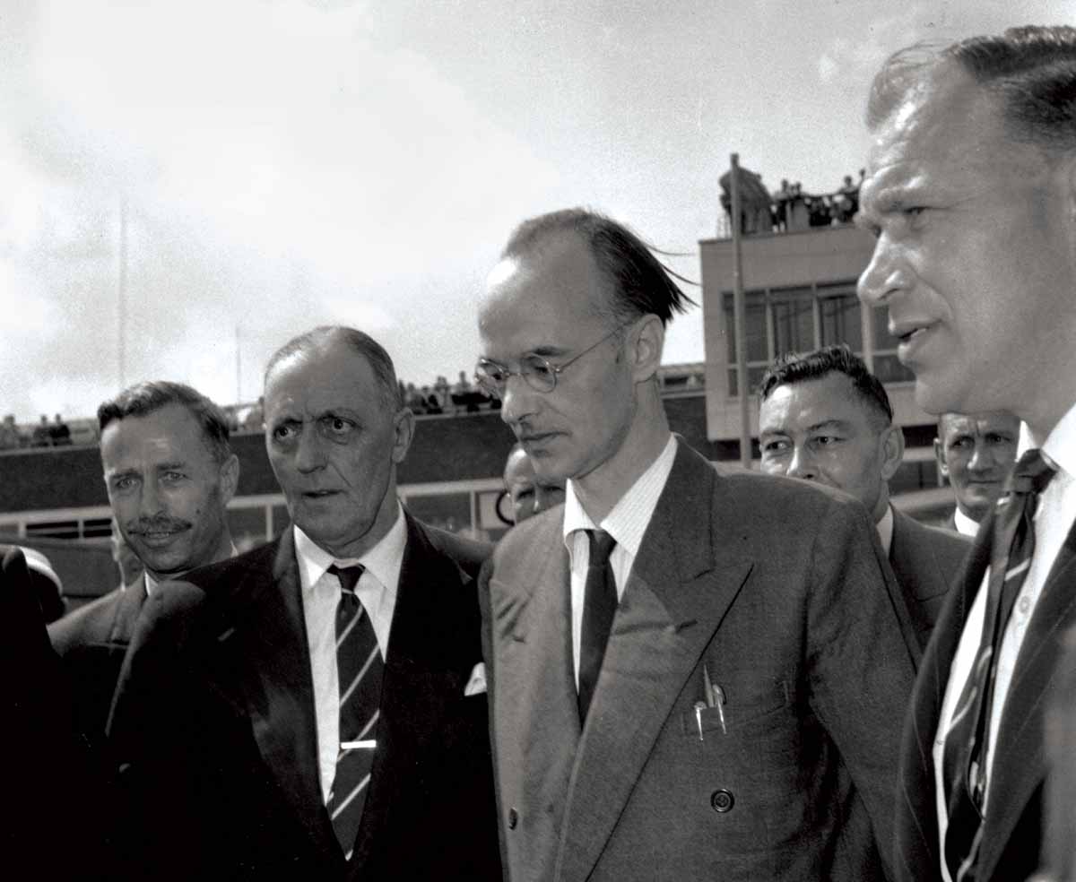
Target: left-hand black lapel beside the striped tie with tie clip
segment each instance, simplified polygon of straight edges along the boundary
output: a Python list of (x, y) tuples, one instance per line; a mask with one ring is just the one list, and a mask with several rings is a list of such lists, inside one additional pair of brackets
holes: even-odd
[(232, 589), (217, 675), (251, 721), (266, 768), (322, 848), (338, 849), (322, 800), (310, 651), (293, 532)]

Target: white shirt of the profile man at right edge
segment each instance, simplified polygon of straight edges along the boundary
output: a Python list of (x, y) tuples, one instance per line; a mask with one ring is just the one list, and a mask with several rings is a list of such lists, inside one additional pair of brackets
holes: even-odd
[[(1021, 433), (1023, 439), (1023, 432)], [(1043, 490), (1035, 510), (1035, 551), (1031, 558), (1028, 575), (1020, 587), (1013, 613), (1005, 625), (1005, 635), (997, 653), (997, 672), (994, 677), (994, 699), (990, 709), (990, 734), (987, 741), (987, 792), (986, 802), (990, 799), (990, 769), (993, 763), (993, 746), (997, 743), (997, 729), (1005, 712), (1005, 699), (1009, 684), (1013, 682), (1013, 671), (1016, 668), (1023, 636), (1028, 631), (1028, 623), (1035, 612), (1046, 578), (1049, 575), (1053, 561), (1064, 544), (1065, 538), (1076, 523), (1076, 404), (1053, 427), (1045, 441), (1030, 438), (1029, 444), (1021, 446), (1040, 446), (1046, 456), (1058, 468), (1057, 474)], [(982, 578), (975, 602), (968, 612), (964, 630), (949, 669), (949, 682), (946, 685), (945, 700), (942, 703), (942, 714), (938, 717), (937, 732), (934, 739), (934, 784), (938, 816), (938, 843), (945, 842), (945, 833), (949, 823), (949, 811), (945, 805), (945, 786), (942, 774), (942, 757), (945, 753), (945, 734), (948, 732), (952, 714), (960, 694), (964, 691), (968, 673), (975, 663), (982, 637), (982, 620), (986, 616), (987, 586), (990, 583), (990, 569)], [(986, 807), (985, 807), (986, 808)], [(945, 865), (944, 849), (942, 853), (942, 878), (952, 882), (949, 869)]]

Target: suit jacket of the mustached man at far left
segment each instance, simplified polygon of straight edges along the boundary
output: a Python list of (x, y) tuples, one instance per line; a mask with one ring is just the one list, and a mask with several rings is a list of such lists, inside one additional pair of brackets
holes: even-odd
[(80, 727), (93, 739), (104, 735), (119, 668), (145, 602), (145, 577), (116, 588), (48, 626), (48, 639), (63, 659), (74, 691)]

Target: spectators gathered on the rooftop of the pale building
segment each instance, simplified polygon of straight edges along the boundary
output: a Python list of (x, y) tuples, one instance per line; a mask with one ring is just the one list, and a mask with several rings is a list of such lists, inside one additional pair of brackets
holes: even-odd
[[(850, 224), (860, 208), (860, 185), (865, 174), (860, 169), (859, 181), (845, 175), (833, 193), (804, 193), (799, 182), (781, 181), (780, 189), (769, 193), (762, 175), (739, 169), (740, 232), (793, 232), (812, 227)], [(731, 174), (721, 176), (721, 205), (732, 223)]]

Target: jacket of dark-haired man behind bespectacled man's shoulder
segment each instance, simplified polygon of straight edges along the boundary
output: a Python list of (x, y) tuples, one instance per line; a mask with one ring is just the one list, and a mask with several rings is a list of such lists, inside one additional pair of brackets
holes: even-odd
[(971, 540), (928, 527), (893, 509), (889, 563), (904, 592), (920, 648), (926, 646), (946, 595), (971, 550)]

